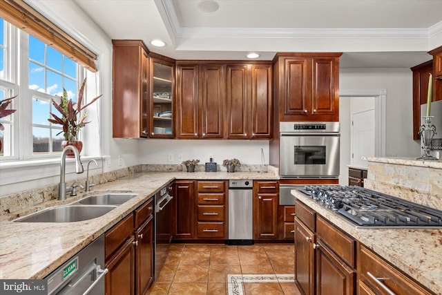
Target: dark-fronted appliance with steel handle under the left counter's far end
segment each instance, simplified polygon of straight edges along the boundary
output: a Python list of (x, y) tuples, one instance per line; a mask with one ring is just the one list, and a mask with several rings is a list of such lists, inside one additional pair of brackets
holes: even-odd
[(155, 194), (155, 278), (166, 262), (172, 240), (172, 202), (170, 184)]

